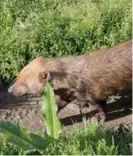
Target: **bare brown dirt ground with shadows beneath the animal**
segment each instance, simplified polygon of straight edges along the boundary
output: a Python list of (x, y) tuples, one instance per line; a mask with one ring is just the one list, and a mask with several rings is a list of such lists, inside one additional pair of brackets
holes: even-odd
[[(14, 97), (7, 91), (0, 91), (0, 120), (15, 121), (30, 131), (42, 131), (44, 125), (40, 117), (41, 97), (23, 96)], [(86, 119), (96, 121), (96, 111), (91, 107), (85, 107), (80, 114), (79, 107), (75, 103), (68, 104), (59, 111), (65, 130), (83, 127), (83, 116)], [(117, 128), (119, 125), (132, 124), (132, 95), (112, 96), (106, 104), (107, 121), (103, 125)]]

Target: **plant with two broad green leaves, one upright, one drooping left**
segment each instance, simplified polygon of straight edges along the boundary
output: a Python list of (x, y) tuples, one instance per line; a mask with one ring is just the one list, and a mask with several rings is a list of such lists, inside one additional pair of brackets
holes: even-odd
[(0, 133), (4, 134), (8, 143), (18, 146), (25, 152), (37, 150), (45, 153), (47, 145), (53, 139), (58, 139), (61, 132), (60, 122), (56, 114), (57, 105), (55, 104), (54, 92), (50, 84), (47, 84), (45, 88), (41, 113), (46, 123), (44, 136), (30, 133), (20, 125), (7, 121), (0, 122)]

